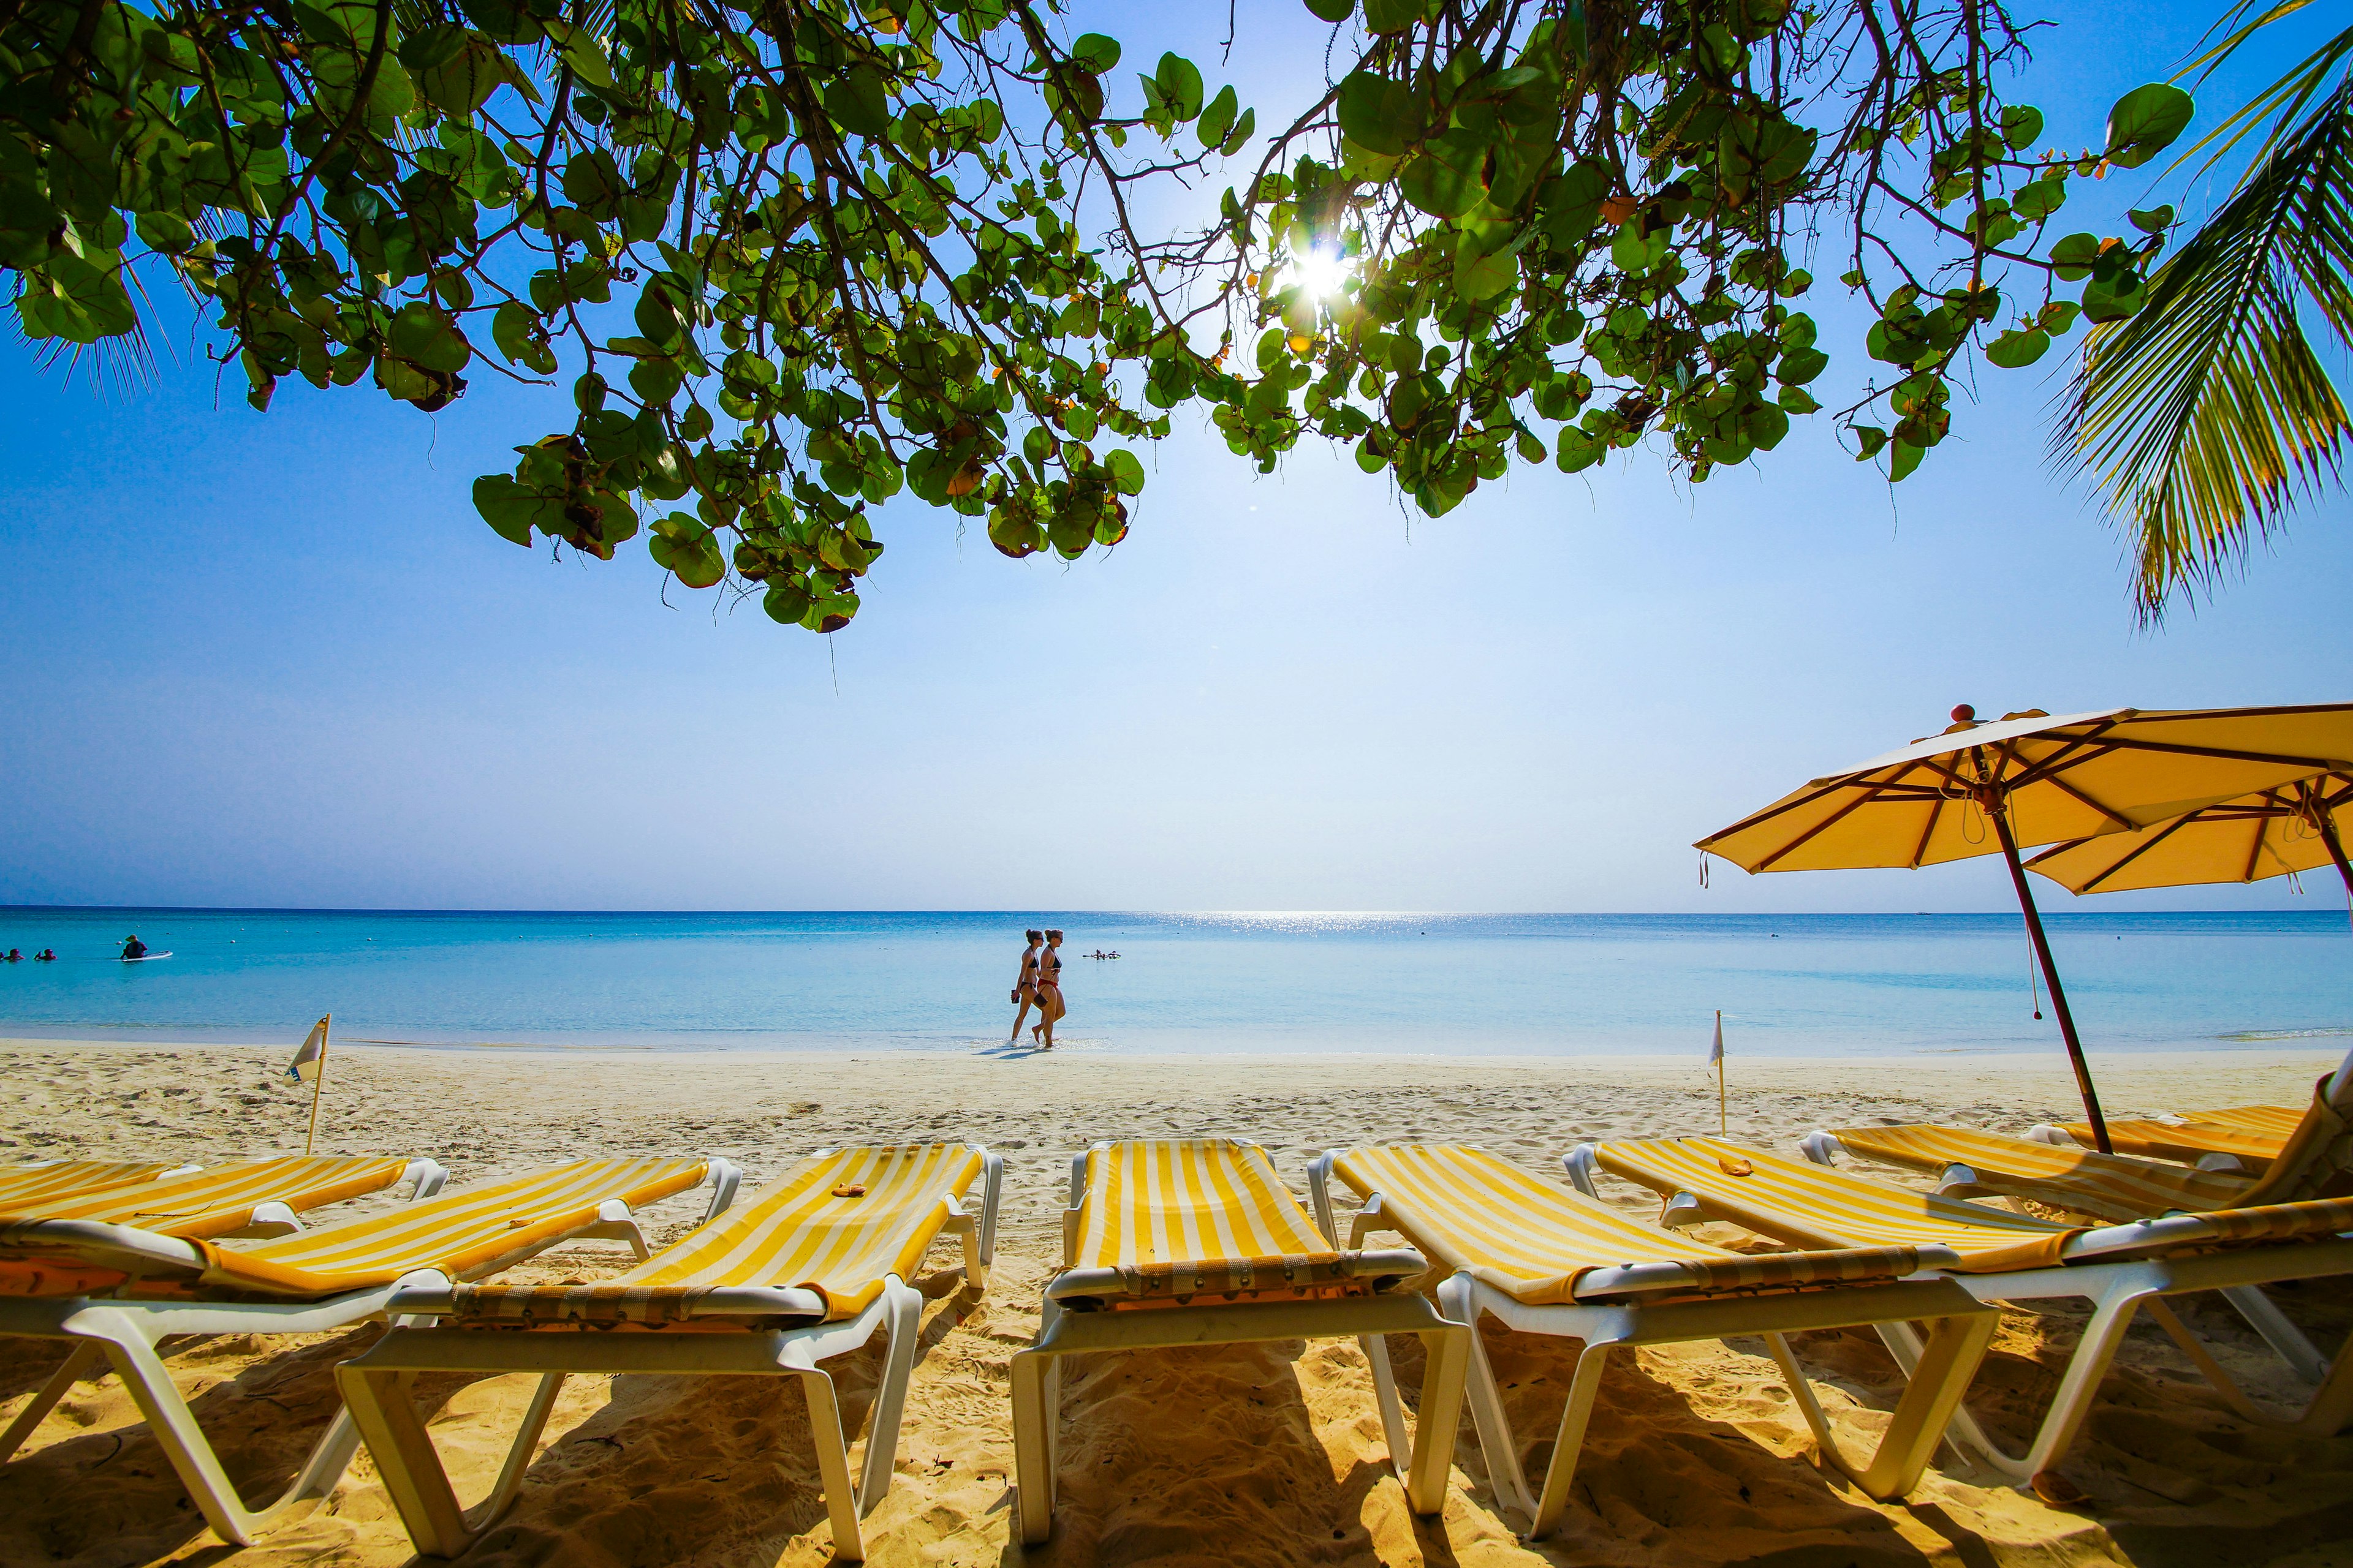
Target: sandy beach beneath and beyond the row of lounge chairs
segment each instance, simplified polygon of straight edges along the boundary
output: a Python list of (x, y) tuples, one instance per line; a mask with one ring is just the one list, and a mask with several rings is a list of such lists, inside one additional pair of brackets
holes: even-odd
[[(0, 1161), (224, 1159), (299, 1150), (308, 1091), (289, 1048), (0, 1041)], [(2111, 1114), (2301, 1103), (2320, 1051), (2094, 1058)], [(1734, 1138), (1788, 1150), (1814, 1126), (1944, 1119), (2021, 1131), (2064, 1119), (2054, 1056), (1758, 1060), (1732, 1067)], [(1132, 1058), (934, 1053), (649, 1053), (339, 1048), (322, 1152), (433, 1154), (452, 1182), (593, 1152), (725, 1154), (748, 1182), (838, 1143), (962, 1138), (1007, 1157), (1000, 1258), (986, 1293), (951, 1248), (929, 1298), (896, 1483), (868, 1519), (871, 1561), (951, 1563), (2353, 1563), (2353, 1439), (2299, 1439), (2233, 1418), (2151, 1326), (2134, 1328), (2066, 1476), (2085, 1502), (2021, 1495), (1951, 1450), (1920, 1490), (1880, 1505), (1812, 1462), (1812, 1441), (1760, 1342), (1642, 1349), (1602, 1392), (1569, 1516), (1522, 1544), (1499, 1514), (1468, 1422), (1442, 1519), (1417, 1521), (1386, 1472), (1369, 1371), (1353, 1342), (1155, 1352), (1085, 1361), (1066, 1380), (1054, 1540), (1009, 1540), (1007, 1356), (1035, 1331), (1059, 1248), (1068, 1157), (1094, 1138), (1257, 1138), (1304, 1194), (1306, 1164), (1367, 1140), (1480, 1143), (1558, 1175), (1581, 1138), (1713, 1131), (1715, 1084), (1657, 1058)], [(1631, 1213), (1654, 1204), (1607, 1192)], [(388, 1199), (374, 1199), (376, 1204)], [(329, 1211), (358, 1213), (365, 1204)], [(649, 1213), (656, 1244), (694, 1199)], [(327, 1215), (320, 1215), (327, 1218)], [(1732, 1239), (1732, 1232), (1708, 1232)], [(544, 1253), (527, 1276), (619, 1269), (616, 1244)], [(2282, 1305), (2318, 1342), (2353, 1326), (2353, 1288)], [(2297, 1396), (2219, 1300), (2184, 1316), (2257, 1394)], [(2005, 1316), (1972, 1406), (2024, 1441), (2080, 1312)], [(374, 1331), (224, 1338), (172, 1366), (231, 1474), (282, 1486), (332, 1410), (329, 1368)], [(1522, 1434), (1558, 1420), (1558, 1342), (1487, 1331)], [(880, 1340), (840, 1373), (864, 1422)], [(1798, 1354), (1842, 1436), (1868, 1441), (1897, 1371), (1868, 1331), (1817, 1333)], [(59, 1354), (9, 1342), (0, 1420)], [(1400, 1359), (1407, 1389), (1419, 1363)], [(433, 1436), (461, 1497), (487, 1490), (525, 1378), (426, 1380)], [(1548, 1439), (1537, 1441), (1541, 1462)], [(127, 1566), (405, 1563), (407, 1537), (365, 1453), (336, 1495), (264, 1544), (224, 1549), (186, 1502), (120, 1382), (82, 1382), (0, 1474), (0, 1561)], [(576, 1378), (513, 1512), (471, 1563), (831, 1561), (798, 1394), (767, 1380)]]

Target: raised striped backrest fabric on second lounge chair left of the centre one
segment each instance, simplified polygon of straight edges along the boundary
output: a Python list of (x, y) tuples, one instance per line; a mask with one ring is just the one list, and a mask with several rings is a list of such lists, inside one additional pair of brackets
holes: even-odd
[[(202, 1284), (216, 1291), (334, 1295), (400, 1279), (409, 1269), (471, 1279), (593, 1225), (609, 1199), (642, 1208), (701, 1182), (706, 1171), (701, 1159), (581, 1159), (299, 1237), (195, 1246), (205, 1253)], [(5, 1241), (7, 1232), (0, 1232), (0, 1248)]]

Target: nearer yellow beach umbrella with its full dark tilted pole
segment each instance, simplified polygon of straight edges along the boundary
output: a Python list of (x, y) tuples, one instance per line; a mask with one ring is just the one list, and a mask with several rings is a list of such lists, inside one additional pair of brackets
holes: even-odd
[(2035, 912), (2021, 844), (2134, 832), (2329, 769), (2353, 771), (2353, 703), (2320, 708), (2042, 710), (1979, 722), (1962, 703), (1939, 736), (1826, 773), (1699, 849), (1746, 872), (1937, 865), (2000, 853), (2052, 992), (2101, 1150), (2108, 1124)]

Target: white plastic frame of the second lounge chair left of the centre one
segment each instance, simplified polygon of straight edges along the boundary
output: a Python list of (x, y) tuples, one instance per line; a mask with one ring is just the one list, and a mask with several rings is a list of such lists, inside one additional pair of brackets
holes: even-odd
[[(736, 1182), (741, 1180), (741, 1171), (734, 1164), (718, 1157), (708, 1164), (711, 1171), (704, 1182), (711, 1185), (711, 1208), (704, 1215), (706, 1220), (734, 1201)], [(202, 1267), (198, 1248), (176, 1237), (85, 1220), (59, 1220), (56, 1225), (71, 1229), (82, 1241), (115, 1251), (134, 1274), (139, 1267), (151, 1272), (191, 1272)], [(496, 1274), (551, 1246), (584, 1239), (628, 1241), (640, 1260), (647, 1258), (645, 1232), (638, 1229), (628, 1204), (607, 1199), (598, 1206), (595, 1220), (501, 1255), (473, 1276)], [(0, 1460), (7, 1460), (66, 1389), (104, 1356), (113, 1363), (115, 1375), (122, 1378), (122, 1387), (139, 1406), (148, 1427), (153, 1427), (155, 1441), (162, 1446), (165, 1458), (172, 1460), (172, 1469), (179, 1472), (181, 1486), (188, 1488), (205, 1523), (228, 1544), (252, 1547), (268, 1530), (289, 1523), (296, 1509), (308, 1512), (325, 1500), (334, 1490), (334, 1483), (344, 1479), (344, 1469), (360, 1446), (360, 1432), (353, 1427), (351, 1410), (339, 1408), (334, 1413), (327, 1432), (313, 1443), (311, 1455), (285, 1493), (261, 1507), (247, 1507), (228, 1472), (221, 1469), (221, 1460), (212, 1450), (212, 1441), (198, 1425), (188, 1401), (181, 1399), (179, 1387), (172, 1382), (172, 1373), (155, 1345), (172, 1335), (334, 1333), (372, 1319), (398, 1324), (391, 1309), (393, 1298), (426, 1284), (447, 1288), (449, 1281), (440, 1269), (414, 1269), (391, 1284), (346, 1291), (315, 1302), (174, 1302), (118, 1300), (106, 1295), (0, 1298), (0, 1338), (19, 1335), (28, 1340), (73, 1342), (73, 1354), (66, 1356), (66, 1363), (16, 1413), (7, 1432), (0, 1434)]]

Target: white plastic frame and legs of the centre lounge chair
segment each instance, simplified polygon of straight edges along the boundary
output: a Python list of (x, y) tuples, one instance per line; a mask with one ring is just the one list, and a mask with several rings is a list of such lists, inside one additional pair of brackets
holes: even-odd
[[(1108, 1150), (1096, 1140), (1092, 1150)], [(1061, 1215), (1061, 1267), (1078, 1262), (1080, 1213), (1087, 1197), (1087, 1157), (1071, 1159), (1071, 1199)], [(1329, 1237), (1329, 1232), (1325, 1232)], [(1351, 1248), (1353, 1251), (1353, 1248)], [(1426, 1352), (1421, 1420), (1405, 1422), (1405, 1403), (1388, 1368), (1384, 1335), (1419, 1333)], [(1438, 1514), (1447, 1502), (1447, 1469), (1454, 1465), (1454, 1432), (1473, 1335), (1409, 1288), (1346, 1300), (1226, 1302), (1205, 1307), (1148, 1307), (1073, 1312), (1045, 1298), (1038, 1338), (1012, 1359), (1014, 1385), (1014, 1497), (1021, 1542), (1035, 1547), (1054, 1533), (1054, 1490), (1061, 1469), (1061, 1359), (1108, 1349), (1172, 1349), (1179, 1345), (1259, 1345), (1271, 1340), (1318, 1340), (1353, 1335), (1372, 1361), (1372, 1387), (1381, 1408), (1388, 1465), (1405, 1486), (1414, 1514)]]

